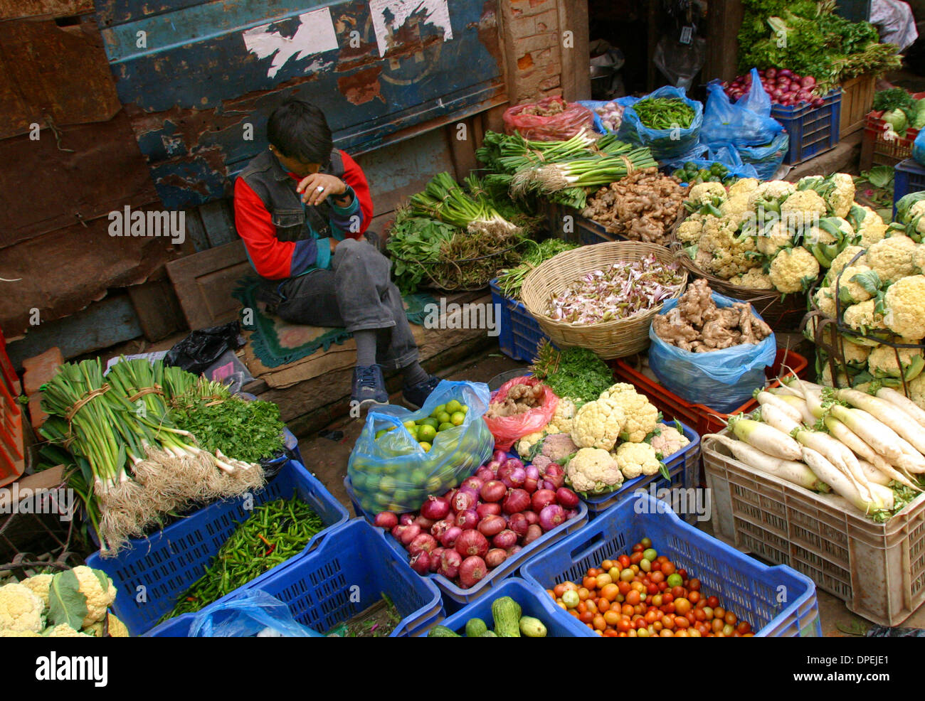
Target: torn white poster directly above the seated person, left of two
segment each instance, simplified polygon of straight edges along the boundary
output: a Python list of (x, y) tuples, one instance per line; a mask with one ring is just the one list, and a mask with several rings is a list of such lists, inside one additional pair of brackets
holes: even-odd
[[(279, 69), (285, 66), (290, 58), (299, 60), (338, 48), (338, 37), (334, 33), (330, 9), (322, 7), (312, 10), (299, 15), (298, 19), (299, 27), (290, 37), (279, 31), (279, 22), (271, 22), (243, 32), (244, 45), (249, 52), (257, 58), (273, 56), (273, 62), (266, 73), (268, 78), (275, 78)], [(311, 66), (302, 72), (307, 73), (321, 67), (318, 61), (313, 61)]]

